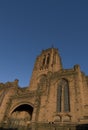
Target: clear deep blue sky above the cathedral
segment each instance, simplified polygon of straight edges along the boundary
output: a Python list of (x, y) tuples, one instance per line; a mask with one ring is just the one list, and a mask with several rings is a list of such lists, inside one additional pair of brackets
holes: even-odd
[(63, 67), (88, 75), (88, 0), (0, 0), (0, 82), (29, 85), (35, 58), (54, 45)]

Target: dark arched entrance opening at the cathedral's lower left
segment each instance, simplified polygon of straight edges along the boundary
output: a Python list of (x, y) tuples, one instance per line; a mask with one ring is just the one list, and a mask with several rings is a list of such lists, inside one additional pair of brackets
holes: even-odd
[(9, 118), (9, 128), (28, 128), (31, 124), (33, 107), (22, 104), (16, 107)]

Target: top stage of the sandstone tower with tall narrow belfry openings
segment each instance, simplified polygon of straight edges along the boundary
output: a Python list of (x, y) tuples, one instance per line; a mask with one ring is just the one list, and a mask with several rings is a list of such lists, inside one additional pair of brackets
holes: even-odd
[(42, 50), (37, 57), (34, 70), (58, 71), (62, 68), (61, 58), (57, 48)]

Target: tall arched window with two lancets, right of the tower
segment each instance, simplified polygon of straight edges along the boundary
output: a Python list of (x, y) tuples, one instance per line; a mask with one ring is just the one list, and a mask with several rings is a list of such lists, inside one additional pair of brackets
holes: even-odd
[(57, 111), (58, 112), (69, 112), (69, 84), (68, 81), (62, 79), (57, 89)]

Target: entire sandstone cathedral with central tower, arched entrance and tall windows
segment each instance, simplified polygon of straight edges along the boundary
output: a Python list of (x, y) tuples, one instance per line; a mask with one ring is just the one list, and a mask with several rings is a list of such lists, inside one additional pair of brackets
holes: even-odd
[(0, 83), (0, 128), (88, 130), (88, 76), (79, 65), (63, 68), (57, 48), (42, 50), (28, 87)]

